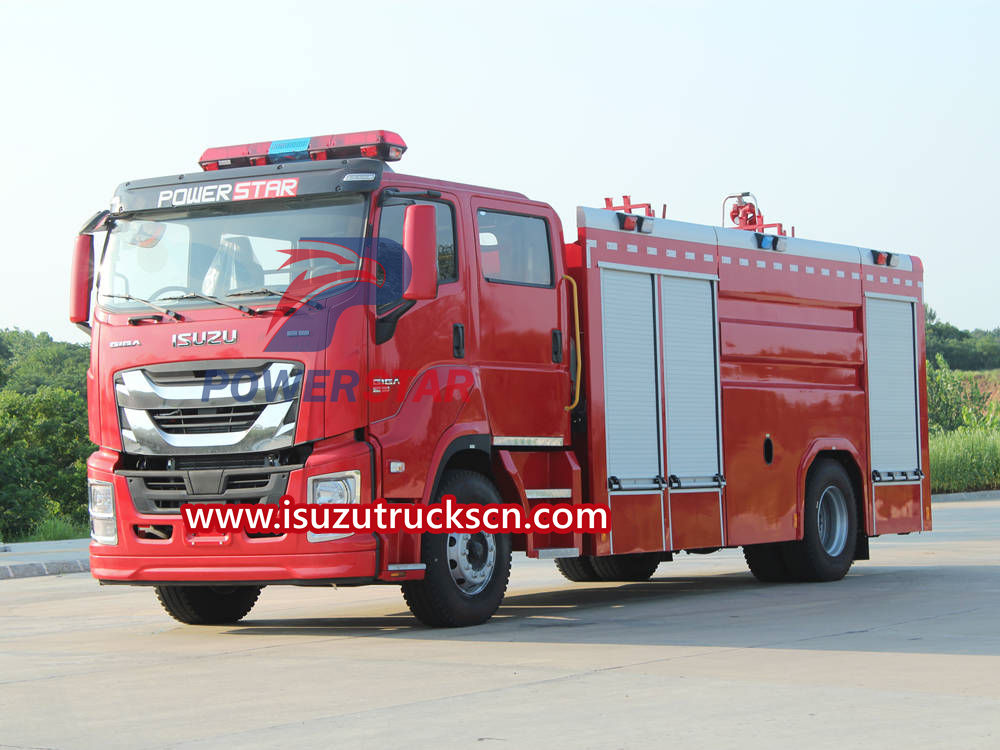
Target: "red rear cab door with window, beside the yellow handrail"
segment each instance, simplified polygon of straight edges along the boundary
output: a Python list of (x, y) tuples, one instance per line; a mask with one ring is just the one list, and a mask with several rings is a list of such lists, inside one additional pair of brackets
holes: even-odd
[(480, 367), (494, 443), (562, 445), (569, 418), (569, 332), (561, 310), (556, 219), (550, 209), (472, 203), (479, 261)]

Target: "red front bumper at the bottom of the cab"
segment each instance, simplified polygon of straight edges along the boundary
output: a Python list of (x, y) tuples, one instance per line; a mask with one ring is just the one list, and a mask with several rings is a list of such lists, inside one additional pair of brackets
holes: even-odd
[[(362, 502), (372, 498), (371, 448), (354, 440), (318, 443), (303, 468), (289, 475), (287, 494), (306, 497), (309, 477), (336, 471), (361, 472)], [(126, 477), (116, 474), (119, 454), (102, 449), (87, 462), (90, 479), (111, 482), (115, 491), (118, 544), (90, 545), (91, 574), (102, 583), (354, 584), (379, 575), (381, 540), (374, 534), (310, 542), (306, 535), (251, 537), (245, 532), (193, 535), (179, 514), (142, 513)], [(144, 538), (136, 527), (170, 526), (169, 539)]]

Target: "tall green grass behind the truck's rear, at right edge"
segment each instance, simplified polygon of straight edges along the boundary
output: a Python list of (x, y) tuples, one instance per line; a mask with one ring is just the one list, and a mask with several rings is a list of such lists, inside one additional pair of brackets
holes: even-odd
[(1000, 432), (961, 429), (931, 434), (931, 491), (1000, 489)]

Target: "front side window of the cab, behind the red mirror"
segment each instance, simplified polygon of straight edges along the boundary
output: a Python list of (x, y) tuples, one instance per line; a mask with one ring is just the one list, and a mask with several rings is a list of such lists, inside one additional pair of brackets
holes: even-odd
[(390, 203), (382, 207), (379, 219), (377, 279), (380, 282), (376, 292), (376, 306), (388, 308), (403, 297), (406, 275), (405, 253), (403, 252), (403, 217), (406, 207), (414, 203), (434, 206), (437, 217), (438, 241), (438, 283), (447, 284), (458, 280), (458, 255), (455, 246), (455, 212), (451, 205), (437, 201), (408, 200), (398, 204)]

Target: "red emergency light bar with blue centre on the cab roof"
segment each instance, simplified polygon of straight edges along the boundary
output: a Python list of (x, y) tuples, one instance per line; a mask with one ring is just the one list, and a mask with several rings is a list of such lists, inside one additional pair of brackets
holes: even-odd
[(382, 161), (399, 161), (406, 143), (390, 130), (368, 130), (361, 133), (317, 135), (312, 138), (290, 138), (283, 141), (261, 141), (240, 146), (220, 146), (206, 149), (198, 164), (206, 172), (233, 167), (260, 167), (288, 161), (325, 161), (351, 159), (359, 156)]

